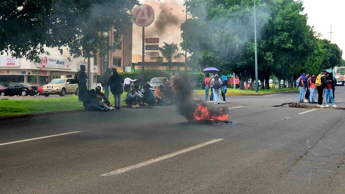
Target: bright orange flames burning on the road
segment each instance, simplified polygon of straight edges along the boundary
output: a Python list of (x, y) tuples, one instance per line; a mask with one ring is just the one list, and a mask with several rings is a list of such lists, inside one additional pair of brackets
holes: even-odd
[(228, 115), (223, 113), (223, 109), (219, 108), (219, 113), (217, 115), (211, 115), (208, 108), (203, 104), (198, 104), (197, 109), (193, 113), (194, 118), (197, 121), (209, 120), (209, 121), (228, 121)]

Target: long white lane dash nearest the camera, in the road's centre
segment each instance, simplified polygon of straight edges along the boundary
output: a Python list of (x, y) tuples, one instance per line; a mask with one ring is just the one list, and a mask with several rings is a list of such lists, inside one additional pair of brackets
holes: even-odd
[(177, 156), (177, 155), (180, 155), (180, 154), (183, 154), (183, 153), (186, 153), (186, 152), (189, 152), (189, 151), (192, 151), (192, 150), (195, 150), (195, 149), (207, 146), (207, 145), (212, 144), (212, 143), (216, 143), (216, 142), (221, 141), (221, 140), (223, 140), (223, 139), (213, 139), (211, 141), (207, 141), (205, 143), (201, 143), (201, 144), (198, 144), (198, 145), (195, 145), (195, 146), (192, 146), (192, 147), (189, 147), (189, 148), (177, 151), (177, 152), (173, 152), (171, 154), (167, 154), (167, 155), (155, 158), (155, 159), (151, 159), (151, 160), (148, 160), (148, 161), (145, 161), (145, 162), (140, 162), (140, 163), (135, 164), (135, 165), (131, 165), (131, 166), (128, 166), (128, 167), (124, 167), (124, 168), (115, 170), (115, 171), (111, 171), (111, 172), (102, 174), (101, 176), (118, 175), (118, 174), (130, 171), (130, 170), (134, 170), (134, 169), (140, 168), (142, 166), (149, 165), (151, 163), (155, 163), (155, 162), (163, 161), (165, 159), (172, 158), (174, 156)]

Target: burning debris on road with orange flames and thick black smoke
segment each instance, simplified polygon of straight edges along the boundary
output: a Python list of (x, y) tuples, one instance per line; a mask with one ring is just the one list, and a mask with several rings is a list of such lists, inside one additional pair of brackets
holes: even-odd
[(175, 101), (179, 113), (188, 121), (228, 122), (228, 115), (218, 106), (207, 107), (205, 102), (192, 100), (193, 84), (186, 74), (174, 82)]

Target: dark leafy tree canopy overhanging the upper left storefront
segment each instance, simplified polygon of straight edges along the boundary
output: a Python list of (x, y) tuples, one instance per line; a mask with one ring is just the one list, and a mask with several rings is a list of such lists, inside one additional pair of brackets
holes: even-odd
[(0, 54), (38, 61), (47, 47), (69, 48), (73, 57), (88, 57), (104, 45), (99, 32), (132, 25), (138, 0), (1, 0)]

